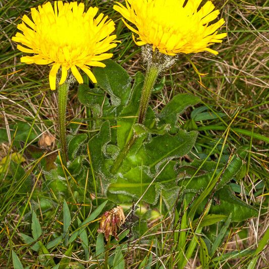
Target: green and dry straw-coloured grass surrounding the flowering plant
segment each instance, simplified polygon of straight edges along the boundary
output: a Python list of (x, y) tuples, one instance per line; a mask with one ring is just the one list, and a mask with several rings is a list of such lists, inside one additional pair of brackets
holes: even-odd
[[(19, 146), (20, 140), (26, 144), (36, 143), (45, 132), (57, 137), (57, 97), (55, 92), (49, 90), (49, 67), (21, 64), (21, 52), (11, 41), (22, 15), (29, 12), (31, 7), (42, 3), (43, 1), (25, 0), (2, 0), (0, 3), (0, 162), (12, 152), (25, 151), (25, 146), (22, 149)], [(96, 0), (84, 3), (87, 6), (98, 6), (101, 12), (116, 22), (118, 40), (122, 43), (113, 51), (114, 60), (130, 75), (139, 70), (143, 71), (140, 48), (134, 44), (131, 33), (121, 23), (119, 15), (113, 11), (113, 1)], [(0, 267), (11, 268), (13, 262), (16, 262), (16, 268), (21, 268), (20, 262), (24, 268), (34, 265), (52, 268), (56, 262), (61, 262), (64, 267), (69, 263), (67, 257), (70, 256), (70, 266), (73, 266), (71, 268), (79, 268), (75, 267), (79, 266), (78, 264), (82, 264), (82, 268), (101, 268), (106, 256), (109, 256), (110, 266), (115, 268), (121, 268), (123, 258), (127, 268), (150, 268), (146, 267), (148, 263), (152, 263), (152, 268), (180, 268), (182, 263), (179, 261), (184, 260), (184, 257), (187, 258), (186, 268), (206, 268), (207, 263), (210, 263), (210, 268), (265, 267), (267, 250), (263, 248), (268, 240), (268, 4), (268, 0), (216, 1), (216, 6), (227, 21), (228, 31), (228, 38), (215, 46), (220, 54), (213, 56), (209, 53), (198, 53), (188, 56), (200, 73), (208, 73), (202, 76), (202, 85), (192, 65), (185, 56), (181, 56), (172, 69), (162, 74), (166, 79), (165, 87), (154, 93), (151, 100), (151, 106), (158, 111), (176, 93), (192, 93), (202, 99), (196, 108), (205, 106), (206, 112), (214, 116), (212, 119), (196, 121), (200, 133), (189, 158), (199, 157), (201, 150), (212, 159), (218, 159), (222, 150), (229, 155), (234, 148), (240, 146), (248, 149), (242, 176), (234, 180), (231, 187), (240, 199), (259, 211), (257, 218), (243, 223), (231, 223), (228, 218), (220, 224), (207, 223), (203, 227), (201, 224), (189, 227), (189, 209), (186, 208), (191, 205), (185, 202), (183, 196), (179, 200), (180, 206), (175, 206), (172, 214), (163, 210), (162, 203), (157, 205), (155, 210), (148, 212), (147, 205), (141, 203), (142, 207), (138, 207), (136, 215), (139, 218), (139, 211), (146, 211), (148, 222), (145, 223), (142, 218), (138, 220), (140, 231), (143, 231), (145, 225), (147, 231), (141, 234), (139, 229), (135, 228), (130, 232), (130, 239), (126, 240), (128, 230), (132, 229), (129, 220), (123, 229), (122, 237), (120, 235), (122, 240), (119, 244), (112, 238), (111, 243), (105, 246), (103, 237), (97, 236), (96, 232), (98, 215), (93, 216), (95, 218), (90, 220), (93, 223), (87, 225), (79, 236), (74, 237), (71, 249), (65, 237), (59, 238), (58, 242), (57, 238), (66, 233), (72, 236), (79, 227), (77, 217), (82, 222), (91, 218), (96, 209), (94, 205), (98, 203), (100, 206), (102, 200), (97, 201), (94, 198), (97, 195), (94, 189), (88, 187), (88, 182), (85, 183), (85, 202), (82, 204), (76, 203), (76, 194), (70, 190), (73, 196), (73, 202), (68, 203), (71, 212), (63, 206), (62, 201), (53, 196), (53, 192), (40, 192), (32, 199), (34, 190), (46, 183), (43, 171), (38, 167), (41, 160), (27, 160), (23, 163), (26, 175), (14, 177), (10, 182), (7, 180), (7, 173), (2, 173)], [(84, 106), (77, 101), (76, 89), (75, 86), (69, 96), (70, 122), (87, 117)], [(180, 125), (189, 122), (191, 111), (189, 109), (181, 116)], [(226, 115), (225, 120), (220, 113)], [(15, 124), (18, 122), (24, 126), (24, 130), (16, 133)], [(231, 129), (226, 132), (230, 124)], [(30, 134), (29, 130), (38, 135)], [(80, 131), (85, 129), (81, 127)], [(227, 134), (226, 140), (221, 140), (218, 151), (211, 154), (211, 149), (224, 138), (224, 134)], [(57, 142), (54, 141), (50, 148), (52, 151), (56, 150)], [(87, 159), (91, 162), (89, 157)], [(14, 174), (20, 173), (17, 171), (18, 166), (10, 167), (9, 158), (2, 165), (4, 168), (9, 167), (9, 171)], [(28, 179), (32, 181), (33, 187), (31, 192), (25, 193), (23, 188)], [(98, 180), (96, 178), (96, 182)], [(94, 181), (94, 184), (96, 182)], [(92, 197), (91, 201), (89, 197)], [(53, 211), (41, 210), (41, 198), (51, 199)], [(34, 214), (32, 216), (31, 210), (36, 212), (36, 218)], [(152, 215), (154, 218), (150, 219)], [(71, 224), (67, 221), (69, 218)], [(136, 216), (133, 218), (137, 219)], [(26, 235), (25, 238), (28, 236), (27, 243), (22, 234)], [(202, 237), (198, 237), (198, 234), (202, 234)], [(218, 237), (212, 234), (222, 236), (222, 239), (219, 241)], [(214, 242), (215, 249), (206, 253), (202, 249), (208, 241)], [(39, 251), (35, 251), (35, 247), (39, 248)]]

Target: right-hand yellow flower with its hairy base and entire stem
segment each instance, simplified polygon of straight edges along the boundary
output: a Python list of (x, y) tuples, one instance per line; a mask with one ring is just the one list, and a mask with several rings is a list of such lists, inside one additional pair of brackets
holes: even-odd
[[(200, 7), (201, 0), (126, 0), (124, 7), (116, 2), (114, 9), (124, 18), (125, 25), (133, 31), (135, 43), (142, 46), (142, 59), (147, 64), (144, 86), (139, 105), (138, 124), (144, 124), (152, 88), (160, 72), (172, 67), (179, 53), (218, 51), (209, 48), (222, 42), (227, 33), (218, 33), (225, 23), (217, 19), (211, 1)], [(128, 22), (126, 22), (126, 20)], [(119, 154), (112, 172), (121, 165), (126, 152), (136, 140), (133, 136)]]

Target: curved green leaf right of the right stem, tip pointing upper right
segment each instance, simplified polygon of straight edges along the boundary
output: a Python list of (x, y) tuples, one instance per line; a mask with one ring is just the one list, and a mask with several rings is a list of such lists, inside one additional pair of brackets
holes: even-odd
[(159, 114), (160, 124), (170, 124), (173, 129), (178, 121), (179, 115), (184, 112), (187, 107), (195, 105), (200, 101), (199, 97), (191, 94), (181, 93), (175, 95), (163, 108)]

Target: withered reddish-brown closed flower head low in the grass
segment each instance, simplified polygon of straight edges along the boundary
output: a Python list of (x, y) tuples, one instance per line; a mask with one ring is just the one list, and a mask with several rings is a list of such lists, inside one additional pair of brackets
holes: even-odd
[(124, 212), (121, 206), (112, 208), (109, 211), (105, 211), (102, 214), (98, 233), (104, 233), (105, 240), (109, 240), (109, 236), (113, 235), (116, 240), (119, 240), (117, 236), (117, 230), (125, 222)]

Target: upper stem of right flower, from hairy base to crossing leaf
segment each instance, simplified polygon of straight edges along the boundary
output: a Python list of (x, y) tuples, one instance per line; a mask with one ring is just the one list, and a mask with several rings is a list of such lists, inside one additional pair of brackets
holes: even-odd
[(159, 72), (160, 72), (160, 69), (154, 64), (149, 65), (147, 67), (147, 72), (145, 76), (145, 81), (144, 81), (142, 95), (140, 99), (140, 105), (139, 105), (139, 115), (138, 115), (139, 124), (144, 124), (151, 91), (156, 82)]

